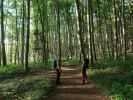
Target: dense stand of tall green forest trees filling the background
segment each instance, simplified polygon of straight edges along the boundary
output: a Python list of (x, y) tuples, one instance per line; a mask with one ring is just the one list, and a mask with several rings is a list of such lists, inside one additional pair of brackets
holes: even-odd
[(93, 64), (133, 52), (132, 0), (1, 0), (1, 8), (1, 64), (54, 56)]

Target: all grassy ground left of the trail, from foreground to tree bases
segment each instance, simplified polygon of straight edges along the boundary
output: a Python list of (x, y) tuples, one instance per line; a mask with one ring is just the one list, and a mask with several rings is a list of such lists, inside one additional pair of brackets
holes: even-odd
[[(54, 84), (42, 73), (52, 69), (52, 63), (31, 63), (30, 73), (25, 75), (24, 66), (0, 67), (0, 100), (42, 100), (53, 89)], [(32, 72), (33, 71), (33, 72)], [(32, 73), (38, 73), (34, 75)]]

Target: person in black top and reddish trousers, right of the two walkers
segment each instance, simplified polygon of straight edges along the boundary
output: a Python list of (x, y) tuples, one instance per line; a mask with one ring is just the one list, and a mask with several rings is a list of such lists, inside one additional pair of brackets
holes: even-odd
[(82, 67), (82, 84), (85, 84), (85, 82), (88, 79), (88, 76), (86, 73), (88, 66), (89, 66), (89, 59), (86, 58), (86, 59), (84, 59), (84, 63), (83, 63), (83, 67)]

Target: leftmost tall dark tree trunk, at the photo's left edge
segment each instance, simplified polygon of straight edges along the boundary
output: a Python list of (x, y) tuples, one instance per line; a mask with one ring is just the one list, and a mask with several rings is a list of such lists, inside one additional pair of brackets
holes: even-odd
[(1, 0), (1, 53), (2, 53), (2, 64), (6, 65), (6, 51), (5, 51), (5, 32), (4, 32), (4, 0)]

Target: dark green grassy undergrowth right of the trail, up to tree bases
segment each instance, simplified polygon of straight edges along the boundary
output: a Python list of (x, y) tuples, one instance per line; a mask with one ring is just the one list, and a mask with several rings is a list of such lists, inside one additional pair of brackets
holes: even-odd
[[(90, 78), (97, 87), (113, 100), (133, 100), (133, 62), (128, 58), (109, 60), (99, 63), (96, 69), (89, 71)], [(103, 66), (103, 67), (102, 67)]]

